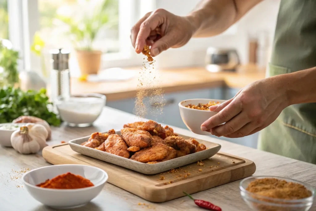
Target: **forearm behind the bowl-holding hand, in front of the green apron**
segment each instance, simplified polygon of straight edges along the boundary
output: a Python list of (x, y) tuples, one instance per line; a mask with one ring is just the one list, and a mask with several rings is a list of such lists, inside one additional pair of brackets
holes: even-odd
[(316, 102), (316, 67), (280, 75), (289, 105)]

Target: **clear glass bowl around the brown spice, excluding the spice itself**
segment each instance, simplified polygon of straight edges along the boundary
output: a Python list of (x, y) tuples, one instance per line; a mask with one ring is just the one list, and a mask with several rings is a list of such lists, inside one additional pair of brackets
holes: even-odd
[[(246, 190), (249, 183), (255, 179), (264, 179), (264, 178), (275, 178), (279, 180), (285, 180), (287, 182), (299, 183), (304, 185), (306, 189), (312, 192), (312, 195), (308, 198), (297, 199), (297, 200), (286, 200), (286, 199), (275, 199), (267, 196), (258, 195), (251, 193)], [(313, 205), (313, 200), (315, 197), (315, 189), (306, 184), (297, 180), (285, 178), (285, 177), (273, 177), (273, 176), (258, 176), (258, 177), (248, 177), (243, 179), (239, 185), (240, 195), (246, 204), (253, 210), (259, 211), (307, 211)]]

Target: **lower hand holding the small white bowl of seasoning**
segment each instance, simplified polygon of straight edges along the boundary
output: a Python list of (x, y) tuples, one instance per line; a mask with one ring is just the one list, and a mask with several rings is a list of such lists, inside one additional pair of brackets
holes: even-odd
[(234, 98), (211, 106), (210, 110), (218, 113), (206, 120), (201, 129), (217, 137), (239, 138), (267, 127), (289, 106), (284, 82), (278, 78), (256, 81), (240, 90)]

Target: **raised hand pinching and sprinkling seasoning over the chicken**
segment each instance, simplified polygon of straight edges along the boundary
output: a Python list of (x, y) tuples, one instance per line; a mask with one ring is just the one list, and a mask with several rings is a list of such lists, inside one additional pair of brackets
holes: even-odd
[(151, 46), (152, 56), (170, 47), (181, 47), (195, 31), (192, 22), (190, 17), (176, 16), (164, 9), (149, 12), (132, 27), (132, 45), (136, 53), (141, 53), (145, 44)]

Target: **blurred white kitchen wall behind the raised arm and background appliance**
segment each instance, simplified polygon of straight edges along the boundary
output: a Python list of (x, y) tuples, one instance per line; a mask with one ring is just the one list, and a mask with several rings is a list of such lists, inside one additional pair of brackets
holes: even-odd
[[(176, 15), (185, 16), (199, 0), (156, 0), (155, 7), (166, 9)], [(203, 66), (207, 47), (236, 48), (241, 63), (248, 62), (248, 34), (265, 31), (270, 38), (274, 36), (276, 18), (280, 0), (264, 0), (249, 11), (236, 23), (234, 34), (221, 34), (211, 38), (195, 38), (184, 47), (170, 49), (161, 53), (156, 59), (159, 68), (181, 66)], [(232, 32), (234, 32), (234, 29)]]

